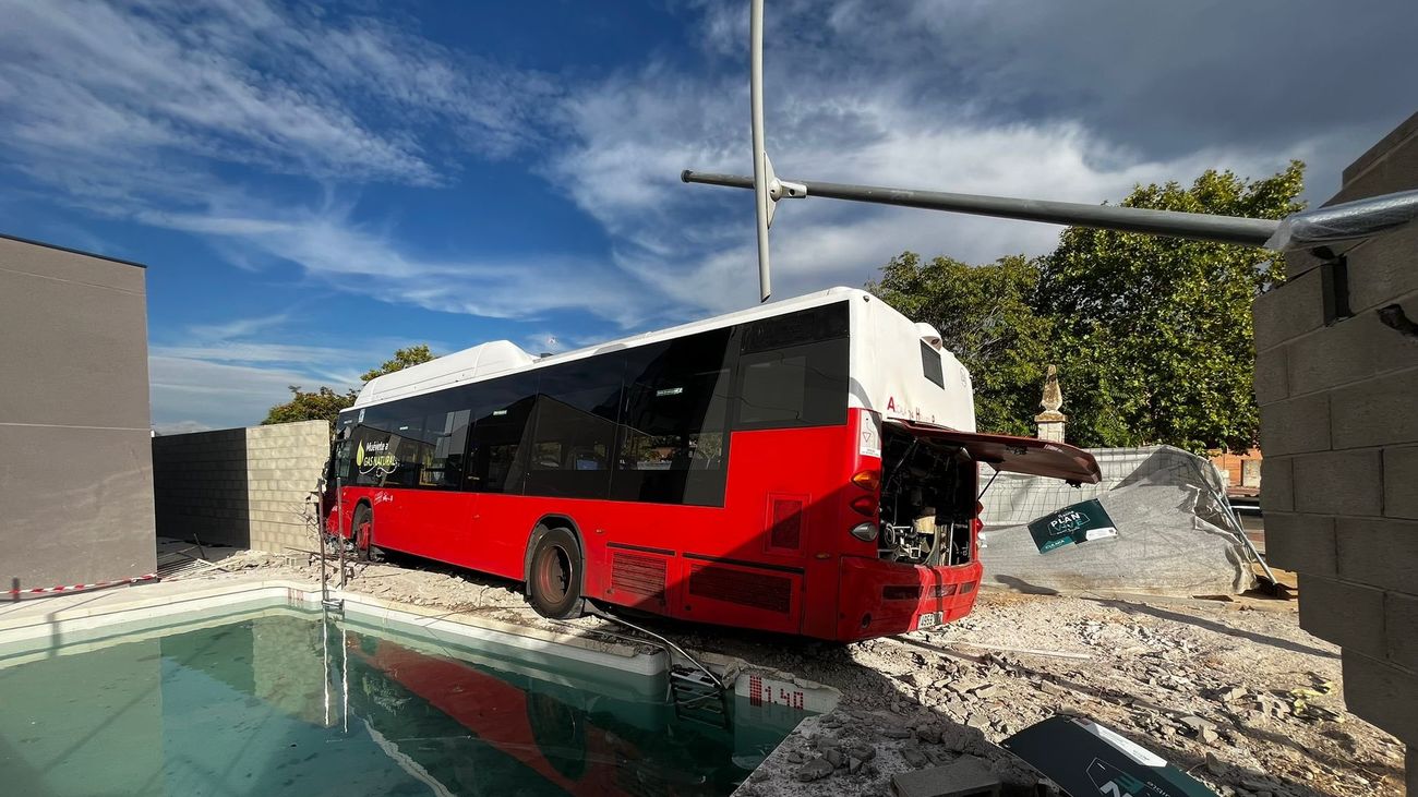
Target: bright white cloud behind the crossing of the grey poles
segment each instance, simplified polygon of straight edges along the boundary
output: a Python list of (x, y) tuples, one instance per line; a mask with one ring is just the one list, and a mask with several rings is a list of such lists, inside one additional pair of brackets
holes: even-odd
[[(1098, 203), (1134, 183), (1188, 180), (1207, 167), (1266, 174), (1288, 153), (1201, 149), (1150, 160), (1071, 121), (998, 125), (968, 106), (930, 112), (899, 85), (781, 98), (770, 135), (786, 177)], [(576, 147), (552, 173), (617, 240), (617, 262), (682, 306), (729, 311), (757, 299), (752, 194), (686, 186), (679, 172), (749, 172), (746, 92), (735, 81), (664, 75), (658, 67), (581, 92), (569, 115)], [(744, 128), (744, 129), (736, 129)], [(780, 204), (774, 295), (861, 285), (905, 248), (988, 261), (1037, 254), (1058, 228), (822, 199)]]

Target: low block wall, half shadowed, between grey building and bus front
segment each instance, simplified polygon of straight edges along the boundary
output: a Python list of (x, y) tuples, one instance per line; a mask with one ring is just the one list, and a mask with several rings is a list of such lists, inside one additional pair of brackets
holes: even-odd
[(153, 438), (157, 533), (279, 553), (316, 545), (309, 494), (330, 425), (302, 421)]

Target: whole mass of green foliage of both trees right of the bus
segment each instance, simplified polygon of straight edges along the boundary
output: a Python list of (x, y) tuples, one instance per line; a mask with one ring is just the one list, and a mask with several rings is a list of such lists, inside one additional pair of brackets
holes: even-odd
[[(1262, 180), (1208, 170), (1123, 204), (1282, 218), (1302, 208), (1302, 177), (1299, 162)], [(981, 430), (1031, 434), (1055, 363), (1071, 442), (1204, 451), (1256, 442), (1251, 302), (1283, 279), (1259, 248), (1069, 227), (1032, 261), (920, 265), (906, 252), (868, 288), (940, 330), (976, 380)]]

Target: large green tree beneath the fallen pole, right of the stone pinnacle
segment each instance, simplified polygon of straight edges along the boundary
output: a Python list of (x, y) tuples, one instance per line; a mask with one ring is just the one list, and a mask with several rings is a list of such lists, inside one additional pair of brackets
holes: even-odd
[[(1245, 180), (1208, 170), (1190, 189), (1139, 186), (1126, 207), (1283, 218), (1305, 166)], [(1054, 321), (1069, 438), (1246, 450), (1259, 414), (1251, 302), (1285, 279), (1255, 248), (1071, 227), (1041, 261), (1035, 308)]]

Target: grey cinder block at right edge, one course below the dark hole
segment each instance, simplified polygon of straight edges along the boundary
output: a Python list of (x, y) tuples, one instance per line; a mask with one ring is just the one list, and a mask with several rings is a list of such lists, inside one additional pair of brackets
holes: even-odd
[(1334, 448), (1418, 442), (1418, 369), (1387, 373), (1329, 396)]

